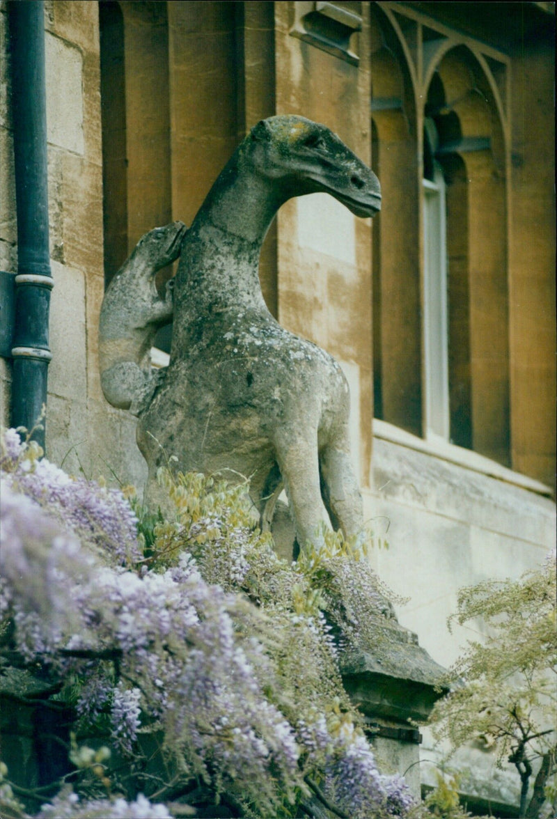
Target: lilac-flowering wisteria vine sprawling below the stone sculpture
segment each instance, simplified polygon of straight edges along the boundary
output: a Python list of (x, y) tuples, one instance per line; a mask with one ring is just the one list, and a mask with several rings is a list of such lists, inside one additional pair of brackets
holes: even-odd
[[(338, 564), (337, 610), (357, 631), (342, 549), (288, 565), (241, 487), (195, 475), (163, 475), (175, 519), (138, 530), (125, 493), (40, 456), (2, 432), (0, 651), (39, 667), (75, 714), (72, 765), (37, 819), (166, 819), (200, 792), (246, 817), (295, 816), (319, 795), (339, 816), (409, 815), (404, 781), (378, 771), (357, 726), (324, 618)], [(383, 602), (370, 585), (371, 610)], [(92, 732), (100, 749), (83, 742)], [(25, 817), (5, 767), (0, 807)]]

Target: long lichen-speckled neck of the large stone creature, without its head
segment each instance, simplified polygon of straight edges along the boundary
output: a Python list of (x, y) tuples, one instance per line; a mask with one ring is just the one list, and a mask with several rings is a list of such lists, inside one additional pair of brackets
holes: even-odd
[(183, 242), (174, 287), (175, 350), (187, 349), (190, 328), (203, 315), (266, 310), (260, 249), (285, 198), (233, 156)]

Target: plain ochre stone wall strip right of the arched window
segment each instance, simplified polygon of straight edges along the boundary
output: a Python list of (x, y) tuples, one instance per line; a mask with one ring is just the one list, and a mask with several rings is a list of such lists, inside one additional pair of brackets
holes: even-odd
[[(555, 486), (555, 47), (514, 56), (509, 319), (513, 463)], [(543, 421), (541, 421), (543, 419)], [(532, 423), (533, 421), (533, 423)]]

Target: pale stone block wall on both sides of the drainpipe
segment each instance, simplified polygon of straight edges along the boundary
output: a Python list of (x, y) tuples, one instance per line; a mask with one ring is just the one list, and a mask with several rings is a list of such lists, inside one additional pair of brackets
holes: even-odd
[[(16, 273), (7, 3), (2, 36), (0, 264)], [(70, 473), (143, 482), (134, 421), (100, 388), (98, 314), (102, 264), (102, 152), (97, 3), (45, 3), (48, 198), (54, 288), (50, 314), (47, 453)], [(11, 362), (0, 360), (2, 423), (10, 423)]]

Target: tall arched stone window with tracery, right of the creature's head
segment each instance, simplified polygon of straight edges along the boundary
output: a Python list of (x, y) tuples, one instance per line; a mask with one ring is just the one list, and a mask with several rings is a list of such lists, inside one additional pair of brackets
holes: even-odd
[[(376, 417), (509, 464), (506, 57), (399, 3), (379, 2), (372, 15), (371, 116), (384, 201), (374, 226)], [(404, 78), (396, 93), (388, 88), (395, 77)], [(403, 121), (415, 127), (404, 133)], [(410, 153), (418, 213), (401, 201), (389, 167)], [(405, 196), (415, 188), (407, 177)], [(410, 236), (418, 250), (403, 255)], [(402, 335), (389, 333), (396, 304)]]

